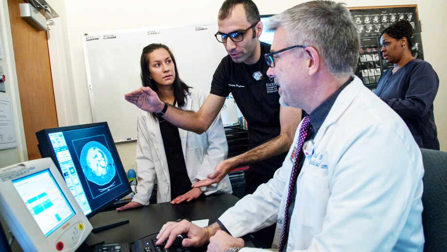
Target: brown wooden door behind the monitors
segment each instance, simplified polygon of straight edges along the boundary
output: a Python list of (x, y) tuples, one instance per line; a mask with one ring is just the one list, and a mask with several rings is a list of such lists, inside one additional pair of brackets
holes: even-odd
[(28, 159), (40, 158), (36, 132), (58, 127), (45, 31), (37, 31), (20, 18), (19, 3), (8, 0), (9, 19), (16, 59), (20, 106)]

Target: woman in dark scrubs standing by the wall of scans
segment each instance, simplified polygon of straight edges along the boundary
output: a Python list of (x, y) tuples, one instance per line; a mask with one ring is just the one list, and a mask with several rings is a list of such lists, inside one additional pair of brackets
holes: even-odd
[(384, 72), (374, 93), (404, 119), (419, 147), (439, 150), (433, 115), (439, 78), (428, 62), (411, 55), (412, 35), (407, 20), (397, 21), (382, 32), (382, 55), (394, 67)]

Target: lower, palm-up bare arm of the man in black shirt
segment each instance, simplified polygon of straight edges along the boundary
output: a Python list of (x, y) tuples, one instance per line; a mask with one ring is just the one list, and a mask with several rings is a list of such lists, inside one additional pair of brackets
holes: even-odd
[(301, 121), (301, 109), (292, 107), (280, 108), (281, 133), (270, 141), (249, 150), (248, 152), (220, 162), (208, 178), (193, 184), (193, 187), (207, 186), (221, 181), (234, 168), (259, 162), (275, 155), (287, 152), (292, 145), (293, 136)]

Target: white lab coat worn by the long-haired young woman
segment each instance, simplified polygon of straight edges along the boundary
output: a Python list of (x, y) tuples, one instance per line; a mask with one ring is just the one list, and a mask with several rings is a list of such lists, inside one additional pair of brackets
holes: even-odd
[[(191, 88), (182, 109), (198, 111), (205, 99), (206, 93), (203, 90)], [(155, 120), (150, 113), (140, 110), (137, 125), (138, 141), (135, 162), (137, 163), (138, 193), (134, 195), (132, 201), (148, 205), (156, 182), (158, 183), (157, 203), (171, 201), (171, 180), (159, 121)], [(206, 175), (212, 173), (216, 165), (228, 154), (220, 114), (216, 116), (208, 130), (201, 135), (180, 128), (179, 133), (186, 170), (191, 183), (205, 179)], [(205, 195), (218, 192), (232, 193), (228, 175), (218, 184), (208, 186)]]

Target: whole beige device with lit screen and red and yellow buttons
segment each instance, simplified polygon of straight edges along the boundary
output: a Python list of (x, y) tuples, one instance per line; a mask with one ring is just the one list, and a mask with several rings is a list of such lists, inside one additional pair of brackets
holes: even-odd
[(0, 213), (23, 251), (75, 251), (92, 231), (50, 158), (0, 169)]

